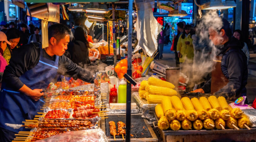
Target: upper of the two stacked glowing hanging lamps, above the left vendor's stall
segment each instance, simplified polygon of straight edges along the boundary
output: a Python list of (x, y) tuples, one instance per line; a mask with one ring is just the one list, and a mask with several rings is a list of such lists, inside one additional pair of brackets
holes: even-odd
[(108, 13), (109, 9), (106, 4), (90, 3), (84, 7), (84, 11), (92, 13)]

